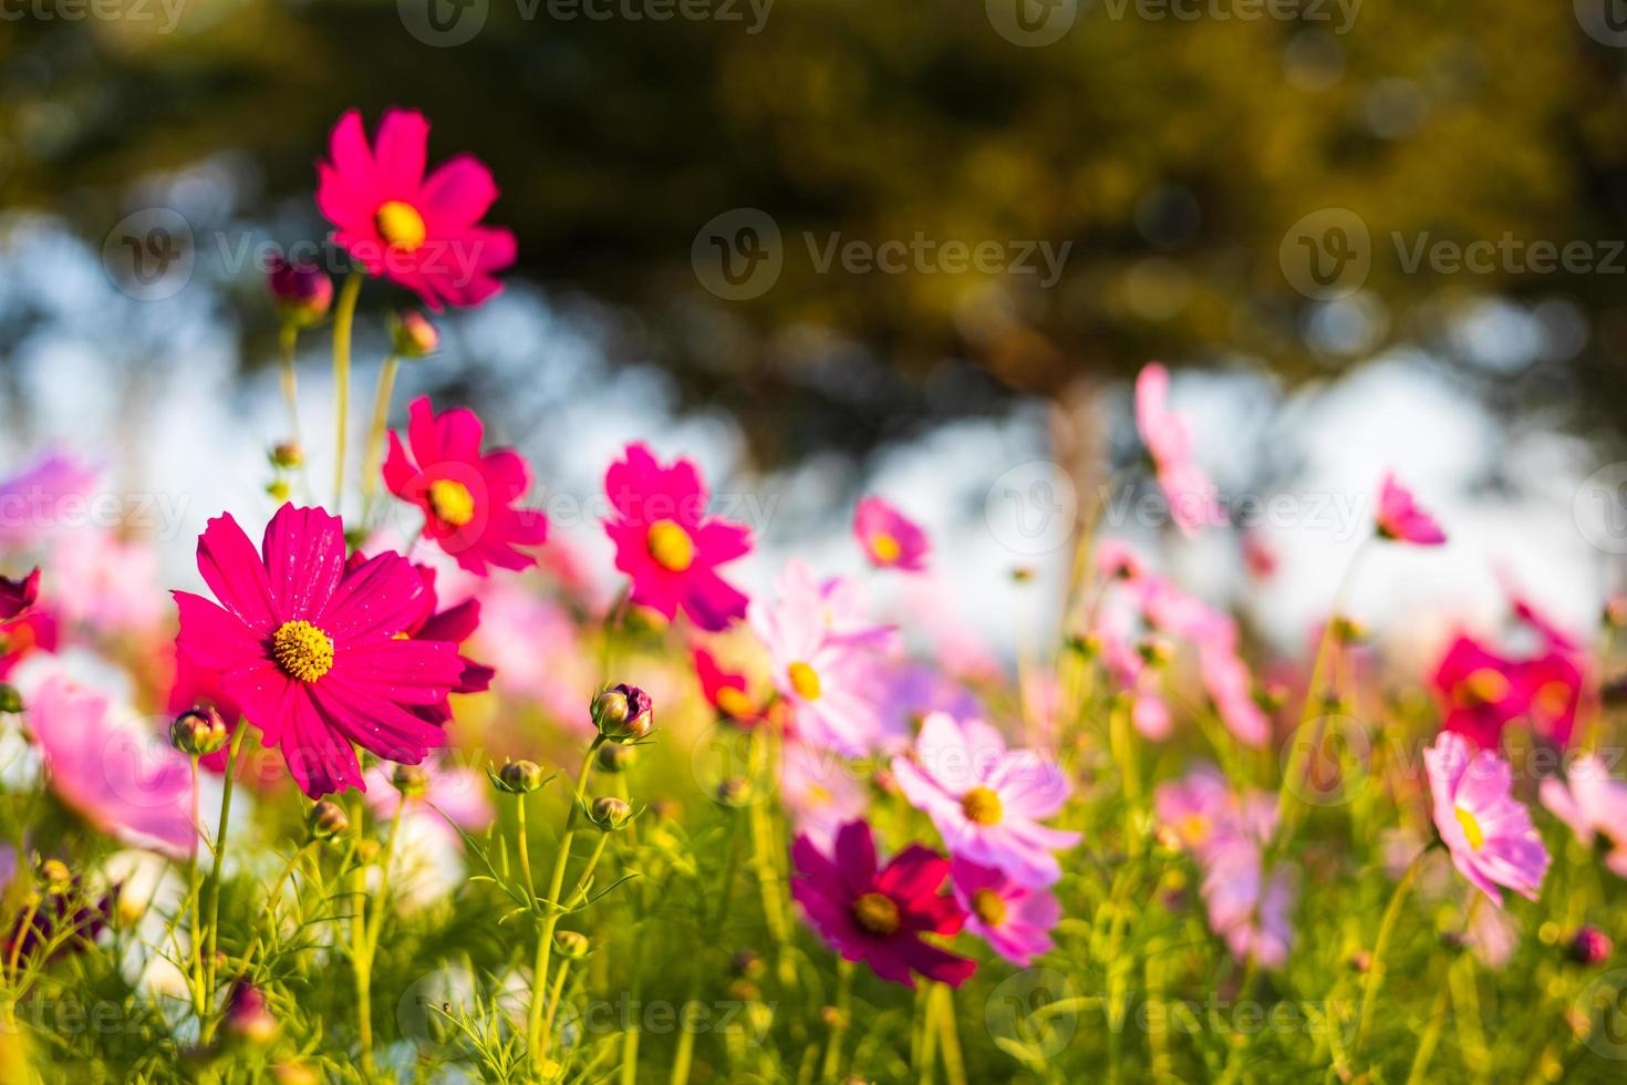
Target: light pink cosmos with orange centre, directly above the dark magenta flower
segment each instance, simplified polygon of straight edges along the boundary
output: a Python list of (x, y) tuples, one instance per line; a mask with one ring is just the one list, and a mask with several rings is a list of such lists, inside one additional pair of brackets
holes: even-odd
[(997, 867), (1030, 888), (1061, 878), (1051, 852), (1079, 844), (1079, 833), (1040, 825), (1067, 802), (1067, 774), (1038, 750), (1007, 750), (1001, 732), (981, 721), (927, 716), (914, 748), (893, 758), (893, 776), (952, 856)]

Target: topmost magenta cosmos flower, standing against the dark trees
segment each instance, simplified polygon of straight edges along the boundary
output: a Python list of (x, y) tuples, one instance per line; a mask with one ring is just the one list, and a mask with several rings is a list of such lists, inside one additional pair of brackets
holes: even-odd
[(369, 275), (384, 275), (426, 306), (478, 306), (503, 286), (493, 278), (514, 262), (514, 234), (480, 226), (498, 187), (477, 158), (459, 155), (428, 177), (430, 122), (386, 109), (368, 146), (351, 109), (317, 163), (316, 203), (334, 223), (334, 241)]

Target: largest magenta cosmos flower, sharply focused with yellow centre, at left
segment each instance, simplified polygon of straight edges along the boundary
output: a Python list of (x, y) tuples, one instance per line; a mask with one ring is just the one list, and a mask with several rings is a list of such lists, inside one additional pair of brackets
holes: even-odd
[(198, 537), (198, 571), (220, 602), (176, 592), (179, 649), (215, 670), (267, 748), (280, 747), (308, 795), (360, 787), (351, 743), (417, 765), (446, 742), (415, 709), (464, 675), (457, 646), (412, 639), (423, 577), (399, 553), (345, 568), (337, 516), (285, 504), (264, 558), (231, 516)]

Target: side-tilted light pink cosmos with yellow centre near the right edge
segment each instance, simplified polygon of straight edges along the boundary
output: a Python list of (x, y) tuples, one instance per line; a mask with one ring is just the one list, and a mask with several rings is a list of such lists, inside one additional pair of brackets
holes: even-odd
[(1443, 730), (1424, 752), (1424, 769), (1435, 804), (1435, 830), (1458, 872), (1498, 908), (1503, 896), (1497, 887), (1536, 900), (1551, 859), (1531, 825), (1531, 812), (1510, 794), (1508, 761)]

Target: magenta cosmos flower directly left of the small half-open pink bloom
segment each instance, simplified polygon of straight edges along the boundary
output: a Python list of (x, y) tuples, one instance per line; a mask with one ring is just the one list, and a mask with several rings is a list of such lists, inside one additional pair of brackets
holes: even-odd
[(716, 633), (745, 617), (745, 594), (718, 566), (752, 550), (748, 527), (706, 516), (706, 483), (690, 460), (662, 467), (643, 444), (630, 444), (605, 472), (615, 568), (633, 577), (628, 599), (669, 621), (682, 610)]

